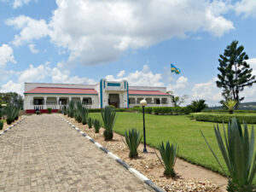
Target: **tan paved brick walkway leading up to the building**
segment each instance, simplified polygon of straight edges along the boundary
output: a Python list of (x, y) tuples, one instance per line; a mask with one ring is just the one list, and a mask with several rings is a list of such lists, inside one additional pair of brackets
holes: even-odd
[(0, 148), (0, 192), (152, 191), (58, 114), (28, 116)]

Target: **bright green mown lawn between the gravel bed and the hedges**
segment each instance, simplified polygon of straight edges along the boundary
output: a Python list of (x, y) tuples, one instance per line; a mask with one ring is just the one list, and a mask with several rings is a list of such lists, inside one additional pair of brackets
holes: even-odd
[[(101, 119), (100, 113), (90, 113), (90, 116)], [(179, 157), (213, 171), (222, 172), (200, 133), (201, 130), (218, 157), (221, 157), (213, 131), (213, 125), (216, 124), (190, 120), (185, 115), (145, 114), (145, 119), (147, 143), (150, 146), (157, 147), (161, 141), (177, 143)], [(137, 128), (143, 133), (142, 113), (118, 113), (114, 131), (124, 135), (124, 132), (130, 128)], [(222, 159), (221, 162), (224, 164)]]

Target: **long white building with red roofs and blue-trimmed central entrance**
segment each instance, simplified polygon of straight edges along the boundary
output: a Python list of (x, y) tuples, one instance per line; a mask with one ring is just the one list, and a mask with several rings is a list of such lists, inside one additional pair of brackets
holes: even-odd
[(38, 109), (62, 109), (69, 101), (82, 102), (87, 108), (132, 108), (146, 99), (148, 107), (172, 107), (172, 95), (166, 87), (129, 86), (126, 80), (98, 84), (38, 84), (25, 83), (24, 109), (33, 113)]

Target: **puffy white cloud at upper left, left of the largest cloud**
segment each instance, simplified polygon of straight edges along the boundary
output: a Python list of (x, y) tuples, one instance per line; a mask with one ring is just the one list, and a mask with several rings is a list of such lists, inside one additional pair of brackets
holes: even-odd
[(20, 34), (15, 35), (15, 39), (12, 41), (16, 46), (44, 38), (50, 32), (45, 20), (33, 20), (25, 15), (6, 20), (6, 25), (15, 26), (15, 29), (20, 30)]

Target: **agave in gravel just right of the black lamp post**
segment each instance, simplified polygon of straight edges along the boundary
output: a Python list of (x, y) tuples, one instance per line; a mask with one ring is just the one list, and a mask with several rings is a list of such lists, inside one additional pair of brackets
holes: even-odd
[(169, 142), (165, 144), (162, 142), (159, 146), (159, 151), (161, 159), (157, 153), (155, 153), (160, 160), (161, 165), (165, 168), (164, 175), (175, 177), (176, 172), (174, 172), (174, 166), (177, 160), (178, 147), (177, 144), (170, 145)]

